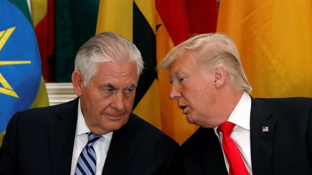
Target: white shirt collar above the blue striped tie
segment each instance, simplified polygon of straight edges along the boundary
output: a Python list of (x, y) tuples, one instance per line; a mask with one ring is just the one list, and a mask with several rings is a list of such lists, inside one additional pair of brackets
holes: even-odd
[[(81, 135), (81, 134), (85, 134), (91, 132), (91, 130), (89, 129), (89, 127), (86, 124), (85, 118), (83, 117), (82, 114), (82, 110), (81, 110), (81, 106), (80, 106), (80, 98), (78, 101), (78, 118), (77, 118), (77, 126), (76, 126), (76, 135)], [(102, 135), (105, 139), (111, 141), (112, 136), (113, 136), (113, 132), (107, 133)]]

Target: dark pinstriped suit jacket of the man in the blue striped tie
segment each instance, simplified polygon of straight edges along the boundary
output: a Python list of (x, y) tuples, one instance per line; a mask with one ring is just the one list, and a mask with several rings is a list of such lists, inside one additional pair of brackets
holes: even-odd
[[(14, 114), (0, 148), (0, 174), (70, 174), (77, 106), (78, 98)], [(131, 114), (113, 133), (102, 174), (171, 174), (178, 146)]]

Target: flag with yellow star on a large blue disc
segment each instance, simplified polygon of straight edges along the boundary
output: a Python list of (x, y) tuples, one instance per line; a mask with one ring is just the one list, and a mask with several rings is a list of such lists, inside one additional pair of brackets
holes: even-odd
[(26, 1), (0, 1), (0, 144), (12, 115), (48, 106), (41, 61)]

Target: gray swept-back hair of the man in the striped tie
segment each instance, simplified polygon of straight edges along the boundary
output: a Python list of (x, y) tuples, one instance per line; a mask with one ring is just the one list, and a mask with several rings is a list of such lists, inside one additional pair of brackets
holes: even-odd
[(76, 55), (75, 70), (81, 72), (85, 87), (96, 75), (97, 65), (108, 61), (119, 65), (135, 62), (137, 80), (143, 70), (141, 53), (133, 43), (118, 34), (102, 32), (82, 45)]

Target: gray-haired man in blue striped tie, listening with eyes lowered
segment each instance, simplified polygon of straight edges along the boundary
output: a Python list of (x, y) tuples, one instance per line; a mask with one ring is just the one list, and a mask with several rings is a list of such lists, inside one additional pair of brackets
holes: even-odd
[(172, 174), (177, 142), (131, 113), (143, 61), (136, 46), (103, 32), (79, 49), (79, 96), (17, 112), (0, 148), (0, 174)]

